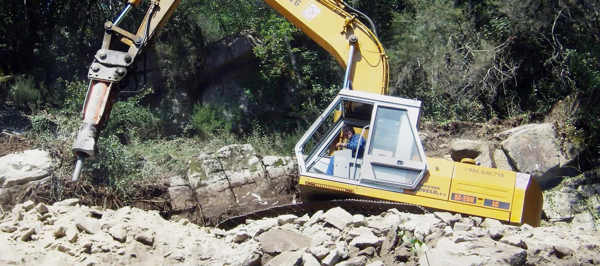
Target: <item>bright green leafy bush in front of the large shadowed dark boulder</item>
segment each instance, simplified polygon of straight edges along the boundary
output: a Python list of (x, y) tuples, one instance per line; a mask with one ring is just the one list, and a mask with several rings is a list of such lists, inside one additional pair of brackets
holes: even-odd
[(230, 130), (233, 126), (232, 120), (224, 115), (223, 108), (214, 105), (200, 105), (199, 103), (194, 105), (191, 124), (201, 137)]

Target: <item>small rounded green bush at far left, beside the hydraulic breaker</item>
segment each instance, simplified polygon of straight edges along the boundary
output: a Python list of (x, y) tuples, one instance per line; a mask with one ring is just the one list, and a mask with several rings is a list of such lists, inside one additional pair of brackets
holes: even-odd
[(35, 112), (41, 105), (40, 90), (35, 88), (33, 77), (19, 77), (10, 88), (10, 99), (19, 108), (28, 108)]

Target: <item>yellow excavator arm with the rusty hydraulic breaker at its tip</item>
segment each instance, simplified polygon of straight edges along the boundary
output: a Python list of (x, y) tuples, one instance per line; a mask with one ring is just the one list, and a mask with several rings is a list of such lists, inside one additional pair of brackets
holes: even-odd
[[(102, 45), (88, 71), (90, 82), (83, 104), (82, 124), (73, 143), (72, 151), (77, 157), (73, 181), (79, 180), (86, 159), (97, 158), (98, 136), (109, 119), (115, 95), (120, 90), (119, 82), (130, 74), (140, 53), (162, 29), (181, 0), (151, 0), (146, 16), (134, 34), (119, 27), (119, 23), (140, 1), (128, 0), (113, 22), (104, 23)], [(385, 51), (376, 34), (358, 20), (359, 16), (368, 20), (364, 14), (341, 0), (265, 2), (325, 48), (346, 69), (343, 88), (376, 94), (387, 92), (389, 69)]]

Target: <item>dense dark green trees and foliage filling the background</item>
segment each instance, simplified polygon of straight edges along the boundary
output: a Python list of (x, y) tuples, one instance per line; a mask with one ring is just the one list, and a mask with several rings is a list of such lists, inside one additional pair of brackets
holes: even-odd
[[(425, 120), (526, 121), (571, 95), (580, 109), (564, 123), (565, 132), (591, 151), (600, 150), (598, 1), (347, 3), (374, 20), (391, 63), (391, 94), (422, 100)], [(10, 33), (0, 35), (2, 106), (31, 115), (32, 130), (51, 134), (46, 140), (52, 141), (43, 143), (62, 145), (65, 156), (85, 97), (86, 66), (100, 46), (103, 22), (122, 5), (112, 0), (0, 5), (0, 31)], [(122, 27), (139, 23), (145, 5)], [(223, 106), (201, 106), (202, 91), (187, 84), (206, 72), (211, 42), (249, 31), (261, 40), (254, 49), (259, 67), (241, 81), (251, 111), (220, 117), (215, 110)], [(175, 99), (188, 106), (182, 112), (189, 115), (178, 118), (185, 136), (195, 132), (205, 141), (253, 141), (263, 152), (291, 152), (302, 129), (335, 96), (343, 76), (325, 50), (262, 1), (184, 0), (148, 53), (160, 68), (161, 77), (151, 84), (157, 95), (186, 96)], [(167, 147), (164, 142), (176, 137), (167, 134), (172, 108), (159, 108), (161, 101), (153, 97), (149, 92), (116, 105), (101, 139), (106, 161), (94, 164), (96, 175), (140, 173), (133, 171), (143, 168), (140, 161), (153, 163), (148, 158), (155, 150), (148, 143)], [(266, 115), (274, 110), (281, 113), (277, 120)], [(61, 143), (57, 136), (64, 137)], [(122, 169), (129, 172), (118, 172)]]

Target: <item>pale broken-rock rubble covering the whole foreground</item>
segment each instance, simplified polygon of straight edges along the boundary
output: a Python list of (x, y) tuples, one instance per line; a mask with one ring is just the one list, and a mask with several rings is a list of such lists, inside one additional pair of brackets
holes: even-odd
[(395, 209), (248, 220), (229, 231), (155, 211), (26, 201), (2, 214), (3, 265), (598, 265), (600, 234)]

